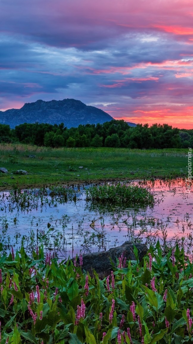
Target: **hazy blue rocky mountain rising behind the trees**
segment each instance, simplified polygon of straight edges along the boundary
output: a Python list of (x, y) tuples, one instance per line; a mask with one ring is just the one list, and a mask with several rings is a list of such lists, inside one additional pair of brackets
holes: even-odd
[[(26, 103), (21, 109), (0, 111), (0, 123), (15, 128), (22, 123), (64, 123), (67, 128), (80, 124), (97, 124), (111, 121), (113, 117), (94, 106), (83, 104), (80, 100), (37, 100)], [(128, 123), (128, 122), (127, 122)], [(135, 123), (128, 123), (135, 126)]]

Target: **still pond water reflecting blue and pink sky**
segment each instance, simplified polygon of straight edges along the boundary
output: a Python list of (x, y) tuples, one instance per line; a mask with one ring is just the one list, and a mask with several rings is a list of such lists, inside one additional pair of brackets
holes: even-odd
[[(86, 202), (85, 188), (76, 186), (77, 201), (65, 202), (38, 190), (30, 191), (33, 200), (25, 206), (9, 191), (0, 193), (0, 242), (6, 250), (19, 247), (23, 238), (28, 251), (39, 240), (59, 257), (68, 258), (91, 251), (109, 250), (126, 240), (183, 241), (192, 255), (193, 192), (186, 192), (182, 179), (135, 181), (155, 196), (153, 208), (96, 206)], [(87, 186), (88, 187), (88, 186)], [(29, 191), (21, 191), (29, 193)], [(49, 227), (49, 228), (48, 228)]]

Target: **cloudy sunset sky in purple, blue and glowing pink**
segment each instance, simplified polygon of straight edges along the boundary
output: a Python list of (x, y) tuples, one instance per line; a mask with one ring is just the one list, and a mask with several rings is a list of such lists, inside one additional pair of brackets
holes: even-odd
[(65, 98), (193, 128), (193, 1), (0, 0), (0, 110)]

